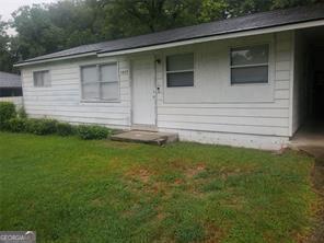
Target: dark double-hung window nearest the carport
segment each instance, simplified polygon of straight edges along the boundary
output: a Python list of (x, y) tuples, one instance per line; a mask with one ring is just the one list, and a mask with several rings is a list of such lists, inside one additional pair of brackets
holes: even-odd
[(269, 46), (231, 49), (231, 83), (267, 83)]

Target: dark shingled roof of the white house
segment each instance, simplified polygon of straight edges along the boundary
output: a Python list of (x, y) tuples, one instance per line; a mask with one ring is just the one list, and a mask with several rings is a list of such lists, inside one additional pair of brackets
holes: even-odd
[(135, 37), (78, 46), (71, 49), (66, 49), (58, 53), (27, 59), (22, 62), (46, 60), (51, 58), (68, 57), (88, 53), (111, 53), (117, 50), (134, 49), (139, 47), (194, 39), (199, 37), (267, 28), (323, 19), (323, 3), (308, 7), (297, 7), (292, 9), (262, 12), (241, 18), (233, 18), (194, 26), (180, 27)]

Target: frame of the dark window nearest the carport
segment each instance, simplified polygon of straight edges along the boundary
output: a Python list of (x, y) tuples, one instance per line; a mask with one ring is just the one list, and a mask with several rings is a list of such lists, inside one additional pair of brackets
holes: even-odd
[[(259, 62), (259, 63), (254, 63), (254, 65), (232, 65), (232, 50), (238, 49), (238, 48), (251, 48), (255, 46), (267, 46), (268, 47), (268, 58), (267, 62)], [(251, 43), (247, 45), (240, 45), (240, 46), (231, 46), (229, 47), (229, 77), (230, 77), (230, 85), (268, 85), (270, 84), (270, 78), (271, 78), (271, 69), (270, 69), (270, 63), (271, 63), (271, 44), (270, 43)], [(240, 82), (235, 83), (232, 82), (232, 69), (235, 68), (253, 68), (253, 67), (267, 67), (268, 68), (268, 79), (267, 82)]]

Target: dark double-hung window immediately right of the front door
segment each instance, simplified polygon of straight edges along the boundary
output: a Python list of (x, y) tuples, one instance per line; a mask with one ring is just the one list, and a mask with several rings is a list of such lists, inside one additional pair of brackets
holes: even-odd
[(166, 86), (194, 86), (194, 54), (166, 57)]

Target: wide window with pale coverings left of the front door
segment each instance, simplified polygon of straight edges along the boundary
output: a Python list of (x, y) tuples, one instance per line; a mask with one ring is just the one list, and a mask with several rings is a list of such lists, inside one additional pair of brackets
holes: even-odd
[(119, 99), (117, 63), (81, 68), (82, 99), (114, 101)]

